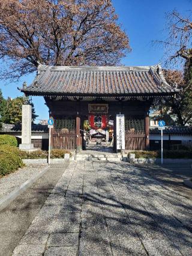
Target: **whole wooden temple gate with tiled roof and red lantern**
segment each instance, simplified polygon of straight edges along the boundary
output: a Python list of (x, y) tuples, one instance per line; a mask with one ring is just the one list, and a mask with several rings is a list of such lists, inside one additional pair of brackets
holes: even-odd
[[(149, 149), (149, 108), (157, 97), (174, 97), (160, 66), (38, 67), (34, 82), (20, 89), (26, 96), (43, 96), (54, 120), (51, 147), (80, 150), (85, 122), (95, 129), (124, 114), (125, 150)], [(109, 132), (109, 130), (108, 130)]]

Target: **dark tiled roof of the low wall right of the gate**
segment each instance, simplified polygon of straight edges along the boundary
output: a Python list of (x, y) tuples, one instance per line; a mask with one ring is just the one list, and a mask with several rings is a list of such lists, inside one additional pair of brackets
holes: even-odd
[[(160, 134), (161, 130), (158, 130), (158, 128), (150, 129), (150, 134)], [(191, 126), (185, 126), (185, 127), (166, 127), (166, 129), (163, 130), (164, 135), (192, 135), (192, 127)]]

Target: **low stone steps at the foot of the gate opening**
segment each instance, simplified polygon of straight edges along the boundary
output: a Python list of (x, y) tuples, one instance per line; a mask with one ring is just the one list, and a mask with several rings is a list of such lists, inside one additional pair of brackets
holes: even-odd
[[(120, 154), (77, 154), (76, 159), (74, 159), (74, 156), (71, 160), (88, 160), (88, 161), (109, 161), (109, 162), (119, 162), (121, 161), (121, 155)], [(125, 157), (124, 157), (125, 160)]]

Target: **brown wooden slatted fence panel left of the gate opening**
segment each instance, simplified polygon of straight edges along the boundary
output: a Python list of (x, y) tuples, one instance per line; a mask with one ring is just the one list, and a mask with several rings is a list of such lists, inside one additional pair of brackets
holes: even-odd
[(53, 149), (76, 149), (76, 130), (54, 130), (52, 134)]

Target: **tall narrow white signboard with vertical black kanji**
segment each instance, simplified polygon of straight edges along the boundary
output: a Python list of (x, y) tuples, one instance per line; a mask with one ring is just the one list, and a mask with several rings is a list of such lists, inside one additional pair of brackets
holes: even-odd
[(116, 149), (125, 149), (125, 117), (116, 115)]

